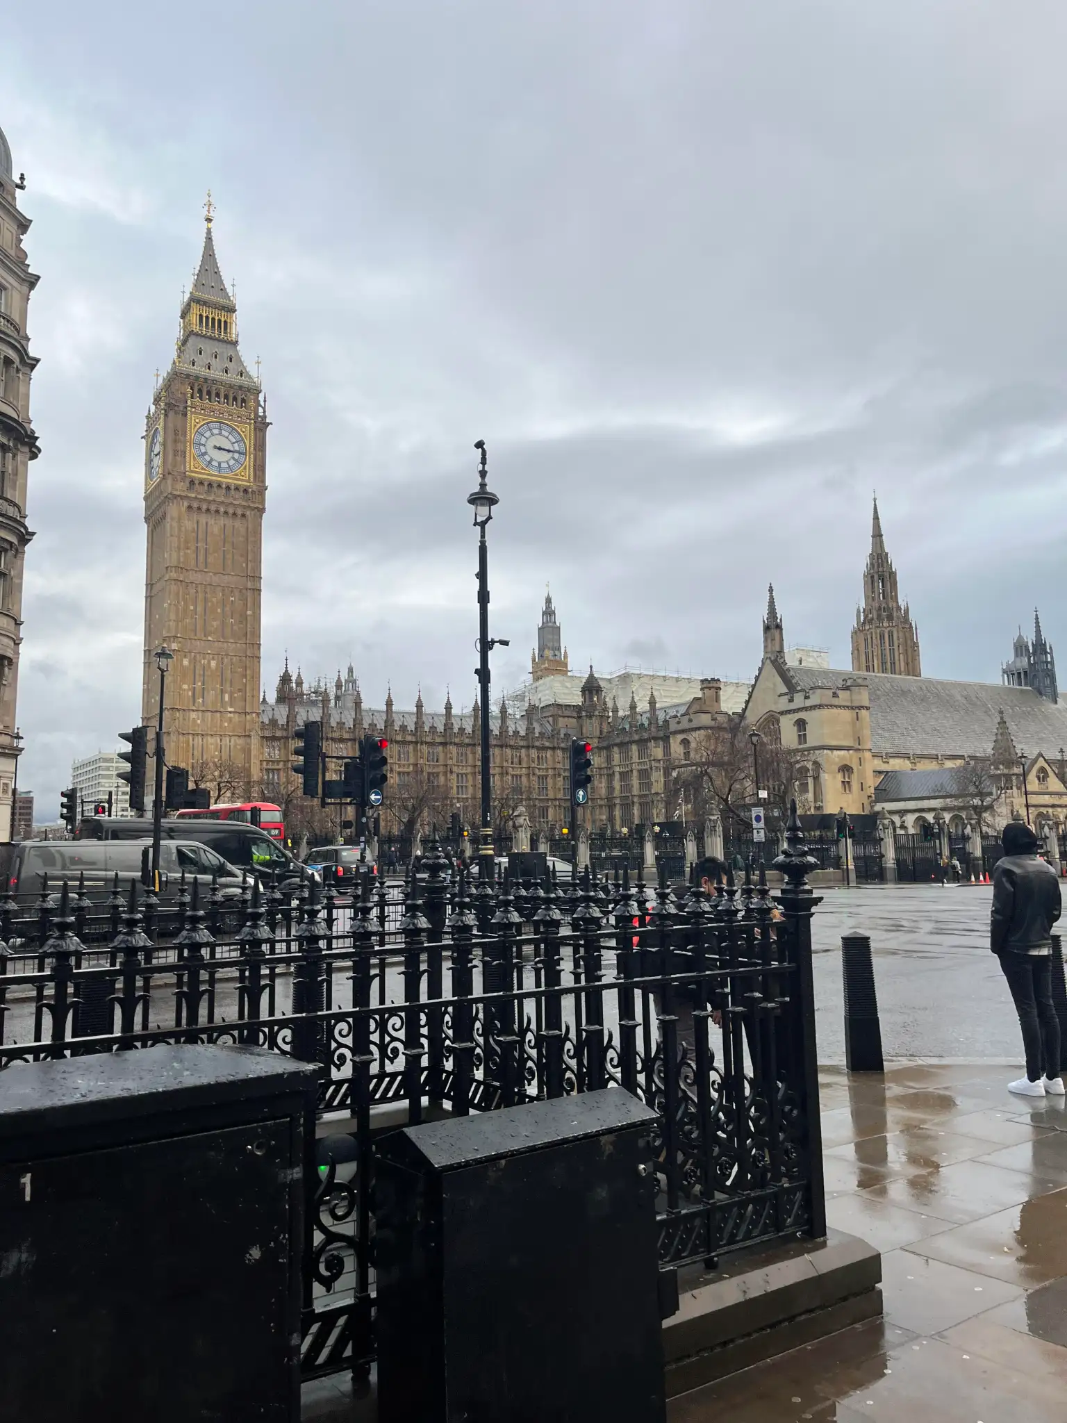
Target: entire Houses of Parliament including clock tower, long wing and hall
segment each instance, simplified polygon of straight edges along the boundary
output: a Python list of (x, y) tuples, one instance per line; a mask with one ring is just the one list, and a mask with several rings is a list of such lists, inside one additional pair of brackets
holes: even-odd
[[(357, 754), (364, 733), (388, 737), (384, 831), (405, 820), (442, 825), (452, 814), (474, 825), (477, 702), (460, 712), (451, 699), (427, 709), (421, 694), (413, 707), (394, 706), (391, 693), (364, 702), (351, 666), (333, 682), (306, 682), (286, 665), (273, 699), (260, 694), (269, 421), (260, 383), (240, 353), (236, 300), (222, 277), (212, 218), (209, 201), (175, 354), (145, 421), (144, 721), (156, 717), (152, 655), (165, 643), (175, 653), (164, 707), (168, 761), (188, 767), (193, 784), (213, 784), (216, 794), (225, 785), (228, 798), (273, 800), (287, 820), (299, 820), (294, 733), (320, 720), (324, 750), (337, 758), (331, 776), (341, 758)], [(918, 629), (899, 598), (876, 502), (862, 591), (852, 666), (835, 670), (822, 652), (787, 649), (771, 589), (763, 660), (751, 683), (640, 670), (598, 676), (592, 666), (586, 675), (572, 672), (548, 595), (529, 677), (492, 709), (498, 822), (522, 807), (534, 830), (573, 825), (572, 737), (595, 747), (590, 801), (582, 811), (588, 828), (620, 832), (684, 818), (686, 764), (710, 733), (731, 724), (788, 753), (802, 811), (892, 814), (901, 824), (911, 815), (915, 822), (926, 813), (916, 805), (938, 798), (930, 788), (943, 790), (938, 776), (945, 781), (950, 770), (987, 760), (996, 741), (1003, 754), (1009, 746), (1019, 750), (1029, 766), (1006, 804), (1021, 801), (1033, 777), (1037, 804), (1067, 821), (1067, 709), (1058, 704), (1053, 649), (1040, 622), (1033, 643), (1021, 633), (1016, 639), (1000, 683), (923, 676)]]

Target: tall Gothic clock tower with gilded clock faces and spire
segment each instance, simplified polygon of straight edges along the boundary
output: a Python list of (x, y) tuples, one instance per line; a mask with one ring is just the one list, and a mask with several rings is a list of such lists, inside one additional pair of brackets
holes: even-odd
[(266, 501), (266, 398), (238, 349), (238, 307), (215, 255), (208, 195), (203, 253), (181, 309), (171, 369), (145, 423), (142, 719), (158, 716), (154, 652), (166, 677), (166, 760), (193, 778), (256, 790), (259, 619)]

